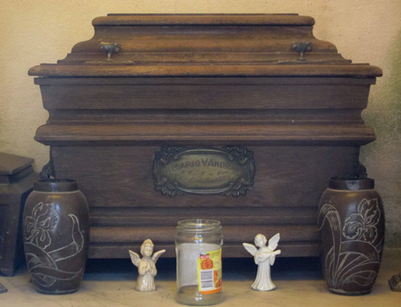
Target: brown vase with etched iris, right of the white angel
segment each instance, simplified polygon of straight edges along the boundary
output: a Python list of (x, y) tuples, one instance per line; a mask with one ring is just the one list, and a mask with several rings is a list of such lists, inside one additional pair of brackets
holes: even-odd
[(381, 196), (371, 178), (331, 178), (319, 204), (323, 275), (331, 293), (366, 295), (384, 245)]

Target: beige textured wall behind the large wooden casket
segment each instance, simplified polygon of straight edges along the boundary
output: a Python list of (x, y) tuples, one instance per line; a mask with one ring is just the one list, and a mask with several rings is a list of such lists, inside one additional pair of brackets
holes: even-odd
[(315, 37), (328, 40), (354, 62), (381, 67), (372, 87), (366, 122), (377, 140), (361, 160), (383, 197), (387, 245), (401, 246), (401, 0), (12, 0), (0, 12), (0, 152), (36, 160), (48, 148), (34, 141), (45, 123), (39, 88), (30, 67), (56, 62), (93, 35), (91, 21), (109, 12), (298, 12), (315, 18)]

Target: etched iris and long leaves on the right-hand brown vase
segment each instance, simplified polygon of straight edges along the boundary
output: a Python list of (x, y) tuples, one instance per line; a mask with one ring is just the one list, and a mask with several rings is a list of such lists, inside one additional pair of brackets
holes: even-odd
[(379, 271), (383, 247), (383, 239), (375, 244), (381, 219), (379, 200), (363, 199), (356, 211), (348, 215), (343, 228), (340, 214), (330, 201), (319, 212), (319, 230), (325, 221), (331, 228), (332, 246), (324, 261), (324, 275), (331, 289), (342, 291), (349, 284), (372, 285)]

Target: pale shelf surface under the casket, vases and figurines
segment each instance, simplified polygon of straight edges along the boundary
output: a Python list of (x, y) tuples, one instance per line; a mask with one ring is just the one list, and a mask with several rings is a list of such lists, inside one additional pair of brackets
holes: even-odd
[[(157, 247), (157, 246), (156, 246)], [(389, 278), (401, 271), (401, 249), (386, 249), (381, 271), (370, 295), (332, 295), (323, 280), (316, 258), (277, 258), (272, 277), (277, 288), (258, 292), (250, 288), (257, 266), (251, 258), (227, 259), (224, 266), (225, 301), (217, 306), (399, 306), (401, 293), (389, 288)], [(0, 306), (183, 306), (176, 303), (174, 259), (160, 258), (157, 291), (134, 290), (137, 276), (128, 260), (89, 260), (86, 275), (77, 293), (41, 295), (29, 283), (29, 273), (21, 266), (12, 278), (0, 277), (8, 292), (0, 295)], [(324, 302), (324, 303), (323, 303)]]

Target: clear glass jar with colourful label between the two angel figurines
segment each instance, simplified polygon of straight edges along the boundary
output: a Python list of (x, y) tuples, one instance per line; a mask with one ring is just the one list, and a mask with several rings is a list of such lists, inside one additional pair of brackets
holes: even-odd
[(218, 220), (180, 220), (176, 227), (176, 301), (211, 305), (223, 301)]

